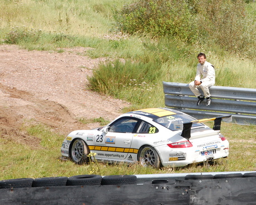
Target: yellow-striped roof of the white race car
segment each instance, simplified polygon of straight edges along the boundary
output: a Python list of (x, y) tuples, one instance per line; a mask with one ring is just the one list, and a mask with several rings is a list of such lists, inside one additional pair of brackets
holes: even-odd
[(166, 107), (159, 107), (159, 108), (147, 108), (147, 109), (142, 109), (142, 110), (135, 110), (135, 111), (131, 111), (128, 113), (144, 115), (144, 116), (150, 117), (152, 119), (156, 119), (159, 117), (180, 114), (181, 112), (172, 110), (172, 109), (169, 109)]

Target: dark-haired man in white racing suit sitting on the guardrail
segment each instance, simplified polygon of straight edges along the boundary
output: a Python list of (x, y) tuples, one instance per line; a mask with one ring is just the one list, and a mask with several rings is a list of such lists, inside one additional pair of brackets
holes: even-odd
[[(211, 95), (209, 88), (215, 84), (215, 70), (214, 66), (206, 61), (206, 56), (204, 53), (198, 54), (199, 64), (197, 66), (195, 80), (189, 84), (190, 90), (198, 97), (199, 105), (203, 100), (204, 96), (206, 98), (206, 106), (211, 104)], [(198, 90), (198, 86), (203, 90), (204, 96)]]

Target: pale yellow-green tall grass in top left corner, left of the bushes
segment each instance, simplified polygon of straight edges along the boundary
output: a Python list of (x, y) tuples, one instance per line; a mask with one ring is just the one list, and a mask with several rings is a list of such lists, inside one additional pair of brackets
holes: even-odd
[[(124, 1), (22, 0), (1, 1), (1, 28), (22, 27), (45, 32), (94, 36), (106, 34), (114, 23), (113, 9)], [(129, 1), (125, 1), (129, 2)]]

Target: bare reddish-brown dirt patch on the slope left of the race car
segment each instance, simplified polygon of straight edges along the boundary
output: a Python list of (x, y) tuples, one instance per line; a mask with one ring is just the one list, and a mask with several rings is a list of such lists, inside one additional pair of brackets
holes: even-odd
[(27, 51), (16, 45), (0, 45), (0, 134), (10, 140), (37, 146), (38, 140), (20, 128), (23, 124), (46, 124), (66, 135), (92, 129), (81, 117), (112, 120), (127, 102), (101, 96), (86, 89), (87, 76), (100, 61), (86, 57), (88, 48), (63, 53)]

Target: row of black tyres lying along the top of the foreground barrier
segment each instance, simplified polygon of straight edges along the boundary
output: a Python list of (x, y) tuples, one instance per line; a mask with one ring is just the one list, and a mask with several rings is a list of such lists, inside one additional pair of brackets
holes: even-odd
[[(220, 178), (242, 178), (256, 177), (256, 172), (248, 173), (228, 173), (217, 175), (186, 175), (185, 180), (210, 180)], [(44, 178), (17, 178), (0, 181), (2, 188), (29, 188), (29, 187), (61, 187), (61, 186), (92, 186), (92, 185), (119, 185), (136, 184), (135, 175), (77, 175), (71, 177), (44, 177)], [(152, 180), (152, 184), (168, 183), (168, 180)]]

